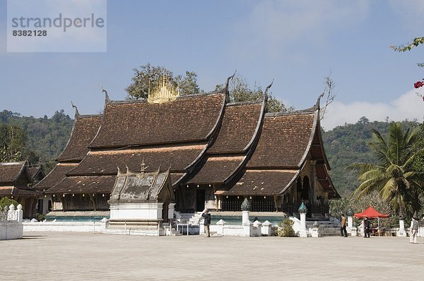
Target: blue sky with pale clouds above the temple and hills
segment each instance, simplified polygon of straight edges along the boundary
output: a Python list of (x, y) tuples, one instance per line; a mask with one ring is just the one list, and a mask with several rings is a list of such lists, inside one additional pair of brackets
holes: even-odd
[(0, 0), (0, 110), (52, 116), (71, 101), (81, 114), (102, 107), (101, 87), (123, 100), (132, 68), (146, 63), (195, 71), (206, 91), (235, 69), (249, 84), (275, 79), (274, 96), (312, 106), (331, 71), (336, 101), (324, 128), (423, 121), (413, 83), (424, 78), (424, 46), (389, 46), (423, 36), (424, 1), (107, 1), (107, 52), (7, 53), (6, 0)]

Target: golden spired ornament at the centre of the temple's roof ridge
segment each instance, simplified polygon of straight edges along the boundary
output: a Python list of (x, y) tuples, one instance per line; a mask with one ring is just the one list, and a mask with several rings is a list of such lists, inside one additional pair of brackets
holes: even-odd
[(150, 82), (148, 84), (148, 99), (149, 103), (164, 103), (177, 100), (179, 97), (179, 85), (172, 83), (166, 73), (158, 79), (158, 85), (151, 89)]

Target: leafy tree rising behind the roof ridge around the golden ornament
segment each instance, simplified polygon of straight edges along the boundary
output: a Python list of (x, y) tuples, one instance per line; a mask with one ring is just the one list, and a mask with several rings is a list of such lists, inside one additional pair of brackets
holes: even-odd
[(152, 66), (145, 64), (140, 68), (133, 68), (134, 76), (132, 83), (125, 88), (130, 100), (137, 100), (148, 97), (149, 88), (153, 89), (160, 83), (160, 78), (166, 76), (171, 83), (178, 85), (180, 95), (191, 95), (202, 92), (197, 85), (197, 74), (193, 71), (186, 71), (184, 76), (174, 76), (172, 71), (163, 66)]

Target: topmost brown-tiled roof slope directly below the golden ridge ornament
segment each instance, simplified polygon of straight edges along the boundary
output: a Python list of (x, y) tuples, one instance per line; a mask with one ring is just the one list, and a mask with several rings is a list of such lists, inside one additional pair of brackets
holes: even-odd
[(223, 112), (222, 92), (178, 97), (173, 102), (109, 102), (89, 148), (123, 148), (207, 140)]

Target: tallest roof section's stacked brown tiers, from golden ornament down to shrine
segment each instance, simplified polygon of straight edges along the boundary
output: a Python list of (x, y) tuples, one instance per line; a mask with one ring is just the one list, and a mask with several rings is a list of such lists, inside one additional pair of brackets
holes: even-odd
[[(143, 160), (150, 171), (170, 168), (172, 184), (177, 184), (204, 155), (222, 121), (224, 104), (224, 92), (182, 96), (162, 104), (107, 101), (98, 133), (88, 145), (90, 152), (47, 193), (70, 192), (75, 182), (78, 191), (88, 191), (86, 187), (95, 186), (102, 176), (115, 177), (118, 168), (139, 171)], [(102, 192), (110, 192), (113, 184), (102, 182)]]

